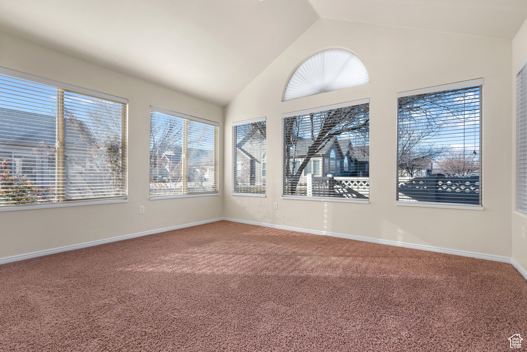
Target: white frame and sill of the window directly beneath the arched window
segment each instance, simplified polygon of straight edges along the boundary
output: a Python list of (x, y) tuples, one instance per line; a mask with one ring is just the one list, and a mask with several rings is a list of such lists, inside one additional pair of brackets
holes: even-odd
[[(334, 199), (333, 197), (316, 197), (316, 196), (293, 196), (293, 195), (285, 195), (284, 194), (284, 158), (285, 158), (285, 155), (284, 155), (284, 119), (288, 118), (288, 117), (293, 117), (293, 116), (299, 116), (299, 115), (307, 115), (308, 113), (314, 113), (314, 112), (320, 112), (320, 111), (325, 111), (325, 110), (331, 110), (331, 109), (339, 109), (339, 108), (346, 108), (348, 106), (354, 106), (354, 105), (360, 105), (360, 104), (366, 104), (366, 103), (369, 103), (369, 98), (365, 98), (365, 99), (359, 99), (359, 100), (352, 100), (352, 101), (346, 101), (346, 102), (343, 102), (343, 103), (338, 103), (338, 104), (331, 104), (331, 105), (326, 105), (326, 106), (321, 106), (321, 107), (317, 107), (317, 108), (311, 108), (311, 109), (305, 109), (305, 110), (298, 110), (298, 111), (291, 111), (291, 112), (284, 112), (282, 113), (282, 118), (280, 119), (280, 123), (281, 123), (281, 129), (282, 129), (282, 134), (281, 134), (281, 162), (280, 162), (280, 165), (281, 165), (281, 169), (280, 169), (280, 174), (281, 174), (281, 184), (280, 184), (280, 187), (281, 187), (281, 198), (282, 199), (295, 199), (295, 200), (298, 200), (298, 201), (318, 201), (318, 202), (338, 202), (338, 203), (360, 203), (360, 204), (369, 204), (369, 197), (368, 197), (368, 200), (367, 201), (357, 201), (355, 199)], [(321, 174), (324, 174), (324, 172), (322, 171), (323, 169), (323, 163), (320, 163), (320, 173)], [(370, 183), (371, 185), (371, 183)], [(368, 192), (369, 193), (369, 192)]]

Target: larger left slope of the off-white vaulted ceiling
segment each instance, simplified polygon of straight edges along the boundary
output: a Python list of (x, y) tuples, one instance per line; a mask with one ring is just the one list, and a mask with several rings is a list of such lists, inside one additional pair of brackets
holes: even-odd
[(307, 0), (0, 0), (0, 31), (225, 106), (318, 16)]

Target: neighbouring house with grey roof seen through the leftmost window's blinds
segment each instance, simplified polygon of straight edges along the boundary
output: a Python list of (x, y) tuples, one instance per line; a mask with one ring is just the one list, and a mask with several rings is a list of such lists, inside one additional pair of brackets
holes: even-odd
[[(55, 186), (56, 116), (0, 109), (0, 131), (0, 158), (7, 159), (12, 173), (36, 184)], [(64, 117), (66, 199), (121, 192), (116, 183), (120, 168), (110, 166), (107, 160), (110, 149), (107, 143), (110, 142), (97, 140), (85, 122)], [(120, 144), (116, 148), (119, 149)], [(120, 150), (115, 154), (120, 155)]]

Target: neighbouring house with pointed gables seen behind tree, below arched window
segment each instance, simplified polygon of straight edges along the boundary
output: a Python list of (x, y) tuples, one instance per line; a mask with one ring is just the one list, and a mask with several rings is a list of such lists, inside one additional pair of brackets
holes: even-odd
[[(307, 155), (311, 139), (299, 138), (295, 150), (291, 150), (294, 159), (289, 161), (292, 171), (298, 167)], [(302, 172), (302, 177), (308, 174), (313, 176), (334, 177), (368, 177), (369, 176), (369, 146), (354, 146), (349, 139), (333, 139), (311, 157), (309, 163)]]

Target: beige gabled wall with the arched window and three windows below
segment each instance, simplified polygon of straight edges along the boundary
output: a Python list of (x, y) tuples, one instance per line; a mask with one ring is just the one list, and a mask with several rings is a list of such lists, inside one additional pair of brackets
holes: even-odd
[[(232, 121), (267, 116), (268, 128), (266, 198), (230, 195), (231, 144), (225, 144), (225, 216), (510, 256), (511, 45), (321, 18), (225, 108), (226, 141)], [(327, 47), (354, 51), (371, 83), (281, 102), (291, 70)], [(396, 206), (396, 93), (481, 77), (485, 210)], [(281, 199), (281, 113), (363, 98), (370, 98), (370, 204)]]

